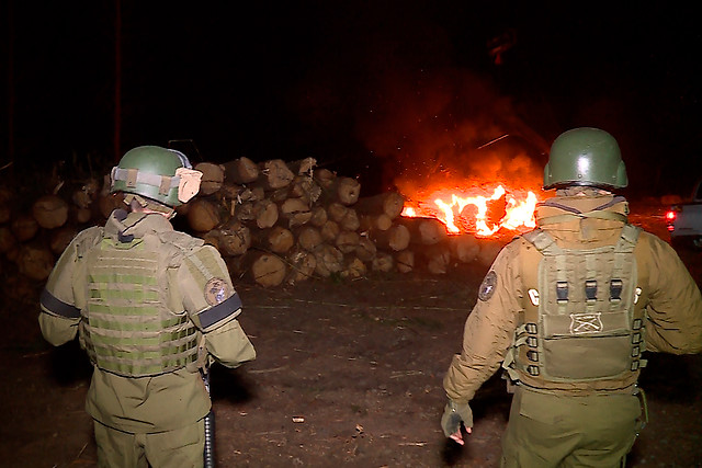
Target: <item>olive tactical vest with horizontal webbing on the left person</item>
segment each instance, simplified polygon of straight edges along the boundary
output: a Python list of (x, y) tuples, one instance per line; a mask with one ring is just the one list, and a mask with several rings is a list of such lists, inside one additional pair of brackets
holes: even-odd
[(184, 311), (168, 307), (173, 249), (154, 233), (123, 240), (105, 236), (82, 259), (80, 338), (99, 368), (144, 377), (196, 359), (196, 328)]

